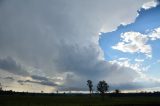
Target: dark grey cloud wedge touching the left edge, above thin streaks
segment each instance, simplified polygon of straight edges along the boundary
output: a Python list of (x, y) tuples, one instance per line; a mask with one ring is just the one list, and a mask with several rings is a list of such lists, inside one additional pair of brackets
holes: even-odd
[(29, 75), (29, 73), (11, 57), (0, 59), (0, 69), (16, 75)]

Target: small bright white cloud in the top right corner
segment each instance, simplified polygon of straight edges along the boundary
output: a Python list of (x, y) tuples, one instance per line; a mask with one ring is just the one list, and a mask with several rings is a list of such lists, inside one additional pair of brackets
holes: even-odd
[(154, 0), (154, 1), (144, 3), (142, 5), (142, 8), (145, 9), (145, 10), (148, 10), (150, 8), (156, 7), (158, 4), (159, 4), (158, 0)]

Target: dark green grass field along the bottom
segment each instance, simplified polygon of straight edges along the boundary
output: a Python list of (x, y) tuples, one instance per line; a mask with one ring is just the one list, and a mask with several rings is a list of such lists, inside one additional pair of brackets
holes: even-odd
[(0, 96), (0, 106), (160, 106), (160, 97)]

